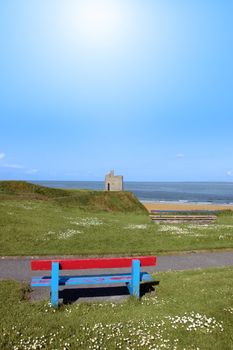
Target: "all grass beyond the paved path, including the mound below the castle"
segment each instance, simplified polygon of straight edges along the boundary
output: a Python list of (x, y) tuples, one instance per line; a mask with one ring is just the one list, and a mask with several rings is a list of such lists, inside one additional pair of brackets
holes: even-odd
[[(38, 197), (39, 196), (39, 197)], [(233, 248), (233, 213), (215, 224), (153, 223), (128, 192), (0, 182), (0, 255), (137, 255)]]

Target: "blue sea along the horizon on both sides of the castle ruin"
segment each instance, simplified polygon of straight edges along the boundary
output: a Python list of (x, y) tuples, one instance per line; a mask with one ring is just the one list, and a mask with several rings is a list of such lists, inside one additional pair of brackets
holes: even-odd
[[(103, 181), (32, 181), (53, 188), (104, 190)], [(232, 204), (233, 182), (124, 182), (141, 202)]]

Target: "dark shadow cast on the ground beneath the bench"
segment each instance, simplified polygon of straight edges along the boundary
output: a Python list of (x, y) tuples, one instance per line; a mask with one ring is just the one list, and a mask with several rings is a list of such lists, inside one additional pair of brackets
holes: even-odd
[[(155, 290), (154, 286), (159, 285), (159, 281), (143, 283), (140, 286), (141, 297)], [(106, 301), (123, 299), (129, 297), (129, 291), (126, 286), (117, 287), (95, 287), (95, 288), (65, 288), (59, 291), (59, 299), (63, 299), (63, 304), (71, 304), (80, 298), (86, 301), (95, 301), (97, 299), (106, 299)]]

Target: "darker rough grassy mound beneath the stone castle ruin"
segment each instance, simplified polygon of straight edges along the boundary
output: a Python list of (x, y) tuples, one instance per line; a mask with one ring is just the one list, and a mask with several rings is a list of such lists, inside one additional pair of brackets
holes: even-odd
[(64, 190), (26, 181), (0, 181), (0, 198), (53, 201), (84, 211), (146, 213), (144, 206), (130, 192)]

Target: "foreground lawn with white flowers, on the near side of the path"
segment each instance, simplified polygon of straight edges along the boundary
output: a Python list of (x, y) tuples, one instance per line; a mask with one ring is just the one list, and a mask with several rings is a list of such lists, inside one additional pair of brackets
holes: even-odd
[[(0, 348), (233, 349), (231, 268), (160, 273), (140, 302), (79, 303), (52, 310), (27, 288), (0, 283)], [(41, 346), (41, 347), (40, 347)]]

